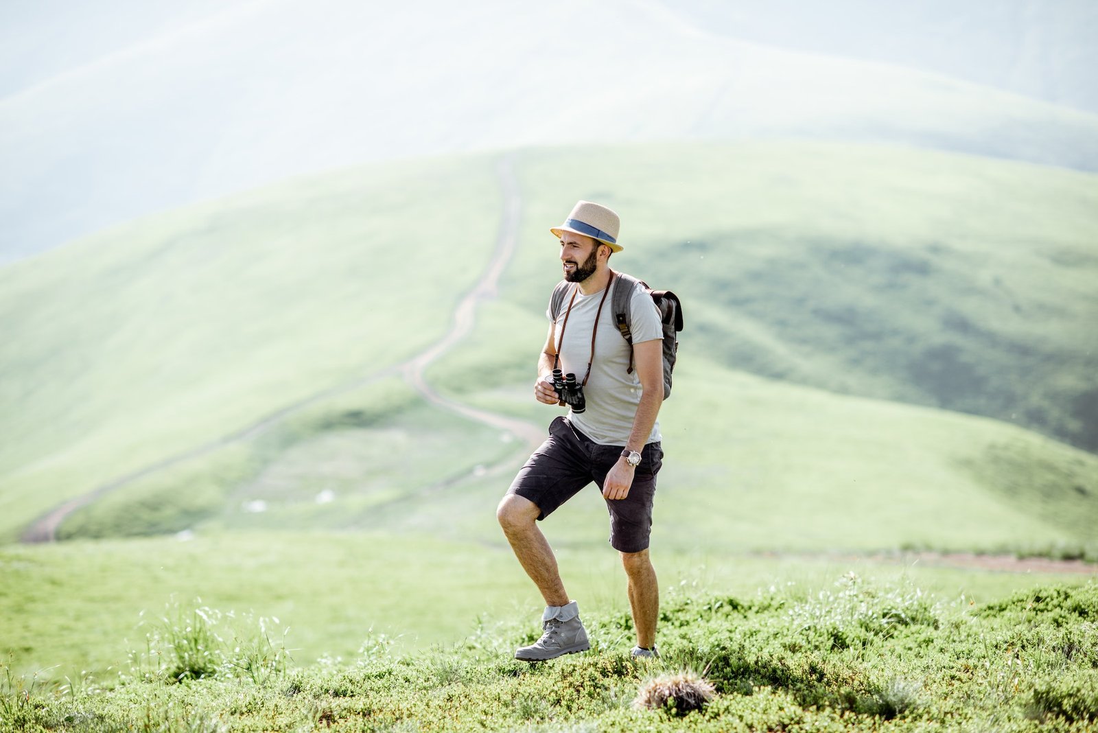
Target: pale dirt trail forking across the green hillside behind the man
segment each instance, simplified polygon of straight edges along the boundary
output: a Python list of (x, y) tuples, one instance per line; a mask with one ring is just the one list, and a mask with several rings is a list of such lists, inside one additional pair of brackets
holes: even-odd
[[(447, 350), (453, 348), (455, 345), (472, 331), (475, 324), (477, 305), (496, 297), (500, 277), (515, 251), (518, 240), (518, 215), (522, 208), (522, 200), (519, 196), (518, 183), (515, 179), (514, 163), (509, 156), (500, 159), (496, 166), (496, 174), (503, 190), (504, 211), (495, 251), (492, 255), (492, 260), (489, 263), (488, 271), (482, 275), (480, 282), (473, 291), (469, 293), (459, 304), (455, 314), (453, 326), (438, 342), (402, 364), (396, 364), (366, 376), (351, 380), (344, 384), (338, 384), (327, 390), (323, 390), (305, 397), (304, 399), (271, 413), (270, 415), (267, 415), (266, 417), (246, 426), (240, 430), (223, 436), (197, 448), (176, 453), (175, 455), (170, 455), (164, 460), (152, 463), (143, 469), (139, 469), (138, 471), (127, 473), (123, 476), (119, 476), (107, 483), (100, 484), (90, 492), (69, 499), (60, 506), (52, 509), (43, 517), (40, 517), (23, 531), (23, 534), (20, 538), (21, 541), (27, 543), (56, 542), (58, 528), (72, 512), (88, 506), (104, 495), (125, 486), (126, 484), (153, 475), (184, 461), (200, 458), (224, 448), (229, 443), (254, 438), (305, 407), (323, 399), (358, 390), (377, 382), (378, 380), (392, 376), (394, 374), (403, 374), (404, 379), (406, 379), (410, 384), (418, 390), (427, 399), (440, 407), (451, 409), (473, 420), (478, 420), (491, 427), (514, 433), (524, 441), (524, 444), (531, 447), (540, 444), (545, 437), (545, 431), (541, 428), (537, 428), (528, 422), (513, 419), (504, 415), (495, 415), (493, 413), (475, 409), (467, 405), (456, 403), (451, 399), (447, 399), (432, 390), (423, 376), (424, 371), (432, 362), (442, 356)], [(506, 463), (511, 463), (512, 460), (513, 459), (508, 459)], [(493, 466), (490, 470), (496, 469), (497, 466)], [(446, 483), (449, 484), (452, 482)]]

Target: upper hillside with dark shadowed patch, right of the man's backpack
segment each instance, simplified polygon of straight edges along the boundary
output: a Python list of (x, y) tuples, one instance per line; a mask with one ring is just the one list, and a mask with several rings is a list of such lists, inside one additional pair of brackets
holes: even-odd
[[(1098, 449), (1094, 176), (796, 144), (553, 150), (523, 173), (549, 194), (530, 241), (553, 219), (541, 201), (624, 212), (632, 246), (614, 264), (680, 292), (690, 351)], [(516, 262), (516, 303), (544, 311), (524, 284), (547, 269)]]

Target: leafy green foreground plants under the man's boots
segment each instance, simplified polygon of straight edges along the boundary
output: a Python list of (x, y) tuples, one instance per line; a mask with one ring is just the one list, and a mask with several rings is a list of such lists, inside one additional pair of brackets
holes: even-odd
[[(177, 606), (109, 685), (63, 687), (5, 670), (0, 730), (1086, 731), (1098, 724), (1098, 586), (1030, 585), (990, 602), (917, 578), (854, 573), (813, 586), (680, 589), (656, 662), (628, 657), (628, 613), (584, 614), (591, 652), (511, 658), (537, 632), (485, 622), (463, 641), (294, 665), (256, 628)], [(253, 625), (249, 629), (248, 622)], [(684, 672), (716, 695), (701, 711), (638, 707)]]

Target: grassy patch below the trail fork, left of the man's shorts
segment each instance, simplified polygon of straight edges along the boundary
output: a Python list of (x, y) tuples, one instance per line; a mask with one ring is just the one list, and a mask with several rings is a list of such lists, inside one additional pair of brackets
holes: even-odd
[(421, 500), (513, 454), (501, 438), (512, 437), (429, 407), (389, 377), (130, 482), (76, 511), (59, 534), (378, 527), (383, 507)]

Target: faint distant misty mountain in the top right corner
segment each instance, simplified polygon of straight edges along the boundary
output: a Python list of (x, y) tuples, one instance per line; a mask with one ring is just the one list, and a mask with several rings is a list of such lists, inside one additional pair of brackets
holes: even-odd
[(1098, 112), (1098, 5), (1089, 0), (676, 0), (675, 8), (740, 41), (899, 64)]

